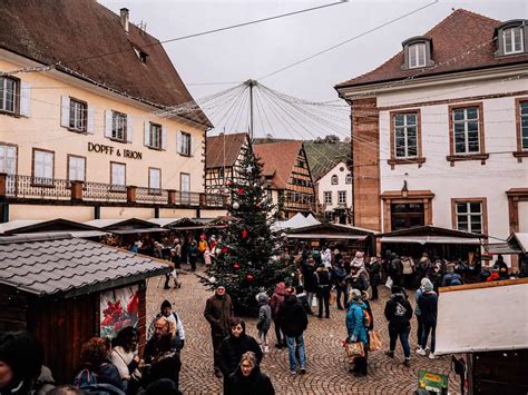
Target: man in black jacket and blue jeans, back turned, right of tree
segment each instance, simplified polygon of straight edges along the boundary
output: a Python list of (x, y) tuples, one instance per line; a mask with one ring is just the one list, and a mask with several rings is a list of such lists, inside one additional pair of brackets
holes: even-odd
[(307, 327), (307, 315), (301, 303), (299, 303), (292, 288), (287, 289), (287, 295), (278, 307), (278, 320), (281, 323), (281, 328), (286, 336), (290, 373), (297, 373), (295, 346), (299, 353), (300, 373), (306, 373), (303, 332), (306, 330)]

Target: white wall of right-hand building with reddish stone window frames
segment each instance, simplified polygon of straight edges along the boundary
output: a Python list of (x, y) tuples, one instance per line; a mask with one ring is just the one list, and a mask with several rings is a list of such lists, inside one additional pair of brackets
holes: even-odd
[[(526, 69), (526, 66), (525, 66)], [(518, 100), (528, 100), (526, 75), (509, 78), (489, 72), (475, 78), (447, 79), (377, 95), (380, 128), (380, 191), (430, 190), (434, 194), (432, 225), (456, 228), (451, 199), (485, 198), (487, 234), (506, 239), (510, 233), (507, 191), (528, 187), (528, 158), (518, 158)], [(517, 95), (516, 92), (519, 92)], [(409, 103), (407, 107), (405, 103)], [(483, 110), (485, 154), (481, 160), (450, 161), (449, 106), (480, 103)], [(421, 157), (418, 164), (391, 166), (391, 112), (419, 109)], [(482, 141), (480, 141), (482, 144)], [(383, 203), (380, 201), (380, 205)], [(381, 209), (383, 215), (383, 209)], [(519, 206), (519, 225), (526, 228), (526, 208)], [(387, 210), (385, 210), (387, 215)], [(385, 218), (387, 219), (387, 218)], [(382, 224), (387, 221), (382, 219)], [(383, 229), (387, 231), (387, 229)]]

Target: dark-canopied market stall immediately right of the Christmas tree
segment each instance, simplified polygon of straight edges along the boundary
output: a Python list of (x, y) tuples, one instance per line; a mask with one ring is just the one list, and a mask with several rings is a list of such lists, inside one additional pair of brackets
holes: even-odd
[(363, 250), (375, 254), (374, 231), (340, 224), (319, 224), (285, 231), (289, 244), (297, 246), (302, 241), (310, 247), (338, 247), (342, 253), (353, 256)]

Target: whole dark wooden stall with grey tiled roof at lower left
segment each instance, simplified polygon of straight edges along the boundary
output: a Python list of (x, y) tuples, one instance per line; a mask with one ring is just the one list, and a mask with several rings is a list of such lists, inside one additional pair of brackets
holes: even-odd
[(33, 333), (55, 378), (71, 383), (90, 337), (135, 326), (145, 344), (146, 278), (169, 270), (68, 234), (0, 237), (0, 330)]

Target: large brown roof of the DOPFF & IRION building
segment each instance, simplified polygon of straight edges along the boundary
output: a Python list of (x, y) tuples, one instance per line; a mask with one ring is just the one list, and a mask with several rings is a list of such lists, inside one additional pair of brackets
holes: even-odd
[[(119, 16), (94, 0), (2, 0), (0, 48), (43, 65), (60, 62), (58, 70), (65, 66), (158, 107), (193, 101), (159, 41), (133, 23), (127, 33)], [(147, 53), (145, 63), (136, 50)], [(116, 53), (99, 56), (108, 52)], [(211, 125), (199, 109), (183, 117)]]

